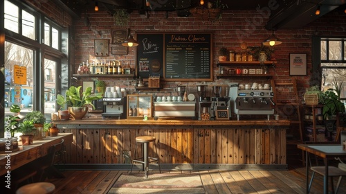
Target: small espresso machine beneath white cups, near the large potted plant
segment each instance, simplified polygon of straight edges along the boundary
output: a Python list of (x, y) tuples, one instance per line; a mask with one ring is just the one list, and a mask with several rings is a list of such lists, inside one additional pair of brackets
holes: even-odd
[(102, 119), (106, 118), (126, 118), (127, 99), (122, 98), (102, 98), (103, 112)]

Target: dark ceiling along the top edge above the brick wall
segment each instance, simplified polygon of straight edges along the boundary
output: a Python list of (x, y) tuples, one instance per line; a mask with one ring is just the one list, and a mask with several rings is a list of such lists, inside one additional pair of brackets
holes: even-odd
[[(177, 15), (188, 16), (189, 9), (199, 6), (200, 0), (149, 0), (151, 6), (145, 6), (145, 0), (58, 0), (76, 17), (86, 10), (93, 10), (98, 1), (100, 10), (108, 10), (110, 14), (117, 8), (125, 8), (128, 12), (145, 11), (176, 11)], [(204, 0), (207, 5), (208, 0)], [(266, 24), (268, 30), (302, 28), (311, 21), (318, 19), (336, 8), (345, 10), (346, 0), (221, 0), (226, 10), (265, 10), (263, 13), (270, 17)], [(320, 15), (315, 15), (320, 4)]]

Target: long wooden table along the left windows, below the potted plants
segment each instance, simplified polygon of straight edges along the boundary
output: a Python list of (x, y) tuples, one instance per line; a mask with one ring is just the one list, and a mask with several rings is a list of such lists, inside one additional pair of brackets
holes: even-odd
[[(62, 139), (64, 139), (65, 145), (71, 143), (72, 137), (73, 134), (71, 133), (60, 133), (58, 136), (46, 136), (46, 138), (42, 140), (34, 140), (31, 145), (23, 145), (23, 150), (1, 154), (0, 175), (6, 174), (8, 170), (15, 170), (39, 157), (43, 157), (47, 154), (48, 148), (51, 145), (60, 143)], [(10, 157), (10, 159), (8, 159), (8, 157)], [(10, 169), (7, 169), (6, 165), (10, 167)]]

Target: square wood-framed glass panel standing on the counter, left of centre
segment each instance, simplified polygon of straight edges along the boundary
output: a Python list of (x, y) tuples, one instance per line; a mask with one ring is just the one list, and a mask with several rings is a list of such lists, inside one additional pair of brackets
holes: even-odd
[[(153, 117), (152, 95), (129, 94), (127, 95), (127, 119), (144, 119)], [(131, 111), (130, 111), (131, 109)], [(136, 113), (134, 112), (136, 109)]]

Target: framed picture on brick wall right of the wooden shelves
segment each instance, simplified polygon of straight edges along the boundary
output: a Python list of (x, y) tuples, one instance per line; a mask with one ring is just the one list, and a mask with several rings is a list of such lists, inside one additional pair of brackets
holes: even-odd
[(307, 53), (289, 53), (289, 76), (307, 76)]

